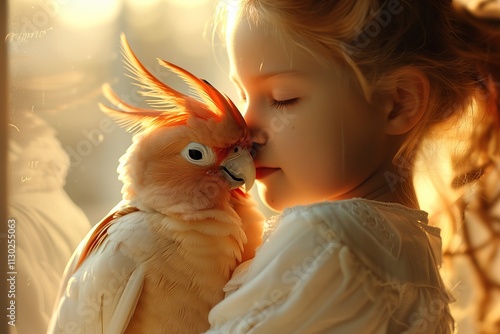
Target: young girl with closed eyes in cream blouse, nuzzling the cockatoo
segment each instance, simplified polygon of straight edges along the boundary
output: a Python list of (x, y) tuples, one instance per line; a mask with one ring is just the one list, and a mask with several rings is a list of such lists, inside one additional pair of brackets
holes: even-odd
[[(412, 165), (486, 73), (450, 1), (225, 0), (259, 193), (282, 214), (209, 333), (452, 333)], [(478, 88), (479, 87), (479, 88)]]

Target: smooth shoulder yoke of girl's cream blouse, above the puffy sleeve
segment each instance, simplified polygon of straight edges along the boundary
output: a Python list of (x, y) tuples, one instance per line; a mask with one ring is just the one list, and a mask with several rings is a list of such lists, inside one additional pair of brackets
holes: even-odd
[(384, 281), (442, 284), (439, 228), (400, 204), (355, 198), (288, 208), (266, 224), (264, 240), (280, 239), (341, 243)]

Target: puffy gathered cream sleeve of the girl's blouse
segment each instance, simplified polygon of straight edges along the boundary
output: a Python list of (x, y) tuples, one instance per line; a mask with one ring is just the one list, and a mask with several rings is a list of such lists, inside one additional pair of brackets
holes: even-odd
[(295, 210), (235, 273), (207, 333), (448, 333), (446, 303), (432, 321), (416, 313), (442, 293), (428, 288), (381, 279), (329, 221)]

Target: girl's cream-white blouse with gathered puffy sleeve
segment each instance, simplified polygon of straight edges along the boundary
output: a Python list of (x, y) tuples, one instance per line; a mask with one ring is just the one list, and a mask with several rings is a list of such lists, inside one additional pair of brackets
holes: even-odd
[(451, 333), (427, 214), (363, 199), (285, 210), (207, 333)]

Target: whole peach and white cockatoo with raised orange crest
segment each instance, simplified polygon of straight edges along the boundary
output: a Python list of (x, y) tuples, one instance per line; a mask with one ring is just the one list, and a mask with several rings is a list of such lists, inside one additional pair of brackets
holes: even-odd
[(116, 109), (101, 109), (138, 132), (118, 167), (123, 200), (73, 254), (49, 333), (202, 333), (261, 242), (263, 216), (241, 189), (255, 179), (249, 131), (208, 82), (158, 60), (197, 98), (172, 89), (121, 38), (152, 109), (103, 88)]

